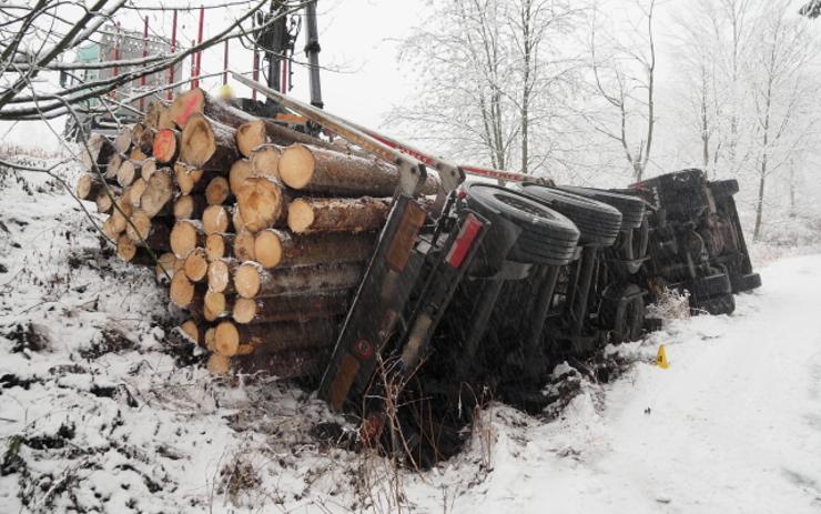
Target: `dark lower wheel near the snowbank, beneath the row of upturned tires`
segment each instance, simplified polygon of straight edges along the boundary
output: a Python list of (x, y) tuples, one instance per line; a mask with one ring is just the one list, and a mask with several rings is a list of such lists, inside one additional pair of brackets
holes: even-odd
[(601, 327), (609, 331), (611, 343), (618, 344), (641, 339), (645, 325), (645, 299), (636, 284), (618, 284), (601, 299), (599, 311)]

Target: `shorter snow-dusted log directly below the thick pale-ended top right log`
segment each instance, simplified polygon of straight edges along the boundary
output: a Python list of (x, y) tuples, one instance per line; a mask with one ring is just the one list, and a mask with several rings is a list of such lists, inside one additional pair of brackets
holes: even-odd
[(381, 229), (392, 199), (300, 198), (287, 206), (287, 224), (295, 233), (363, 232)]

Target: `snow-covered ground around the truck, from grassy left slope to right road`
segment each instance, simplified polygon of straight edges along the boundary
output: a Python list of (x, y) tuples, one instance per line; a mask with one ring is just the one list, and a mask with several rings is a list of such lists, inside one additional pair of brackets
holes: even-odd
[(327, 444), (352, 427), (310, 391), (209, 376), (53, 179), (0, 170), (0, 200), (1, 513), (821, 511), (821, 255), (614, 350), (627, 372), (556, 417), (493, 404), (414, 474)]

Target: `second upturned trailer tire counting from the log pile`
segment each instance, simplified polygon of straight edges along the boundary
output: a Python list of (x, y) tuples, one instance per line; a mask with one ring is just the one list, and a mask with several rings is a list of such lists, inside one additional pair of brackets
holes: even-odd
[(611, 246), (621, 229), (621, 213), (614, 206), (544, 185), (525, 184), (529, 196), (566, 215), (579, 229), (579, 243)]

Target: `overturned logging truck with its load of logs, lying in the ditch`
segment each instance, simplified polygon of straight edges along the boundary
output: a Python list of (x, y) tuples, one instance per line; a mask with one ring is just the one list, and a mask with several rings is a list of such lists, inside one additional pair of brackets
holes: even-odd
[(348, 144), (192, 90), (87, 144), (78, 195), (123, 260), (171, 279), (212, 371), (314, 377), (361, 443), (416, 465), (458, 449), (487, 397), (543, 410), (558, 363), (640, 339), (666, 289), (731, 313), (760, 285), (734, 181), (597, 190), (455, 165), (235, 78)]

